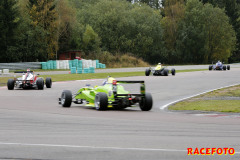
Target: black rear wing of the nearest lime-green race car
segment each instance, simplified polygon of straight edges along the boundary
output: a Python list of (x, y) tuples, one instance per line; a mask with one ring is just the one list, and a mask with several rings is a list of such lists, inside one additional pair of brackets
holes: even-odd
[[(117, 84), (135, 84), (135, 83), (139, 83), (140, 84), (140, 94), (117, 94)], [(117, 81), (117, 80), (113, 80), (113, 94), (114, 97), (118, 97), (118, 96), (145, 96), (145, 83), (144, 81)]]

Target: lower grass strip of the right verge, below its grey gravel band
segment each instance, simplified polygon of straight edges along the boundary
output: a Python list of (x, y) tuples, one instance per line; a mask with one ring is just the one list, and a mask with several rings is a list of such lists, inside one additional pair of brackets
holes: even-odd
[(214, 112), (240, 112), (240, 100), (200, 100), (183, 101), (168, 108), (169, 110), (199, 110)]

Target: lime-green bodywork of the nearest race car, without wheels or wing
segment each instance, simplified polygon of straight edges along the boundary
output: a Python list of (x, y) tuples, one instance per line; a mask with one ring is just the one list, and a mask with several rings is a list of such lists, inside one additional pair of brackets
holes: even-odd
[[(129, 91), (126, 91), (122, 85), (117, 86), (117, 94), (129, 94)], [(81, 88), (76, 96), (75, 99), (84, 99), (89, 102), (89, 106), (94, 106), (95, 95), (98, 92), (104, 92), (108, 96), (108, 103), (111, 105), (111, 102), (114, 101), (114, 94), (113, 94), (113, 84), (105, 84), (104, 86), (96, 86), (96, 87), (84, 87)]]

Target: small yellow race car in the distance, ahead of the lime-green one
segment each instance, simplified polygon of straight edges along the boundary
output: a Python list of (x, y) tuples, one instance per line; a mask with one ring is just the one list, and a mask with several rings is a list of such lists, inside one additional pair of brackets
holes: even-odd
[[(169, 70), (166, 67), (162, 67), (161, 63), (158, 63), (158, 65), (152, 69), (151, 67), (145, 70), (145, 75), (149, 76), (152, 72), (153, 76), (168, 76)], [(175, 76), (176, 70), (174, 68), (171, 69), (171, 74)]]

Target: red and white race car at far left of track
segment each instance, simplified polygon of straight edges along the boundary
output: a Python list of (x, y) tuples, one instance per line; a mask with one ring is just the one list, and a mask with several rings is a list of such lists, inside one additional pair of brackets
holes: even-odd
[[(52, 79), (46, 78), (46, 87), (52, 87)], [(27, 69), (27, 71), (23, 71), (22, 77), (8, 79), (7, 82), (8, 90), (13, 90), (14, 87), (16, 88), (23, 88), (23, 89), (44, 89), (44, 79), (42, 77), (38, 77), (34, 74), (33, 71)]]

